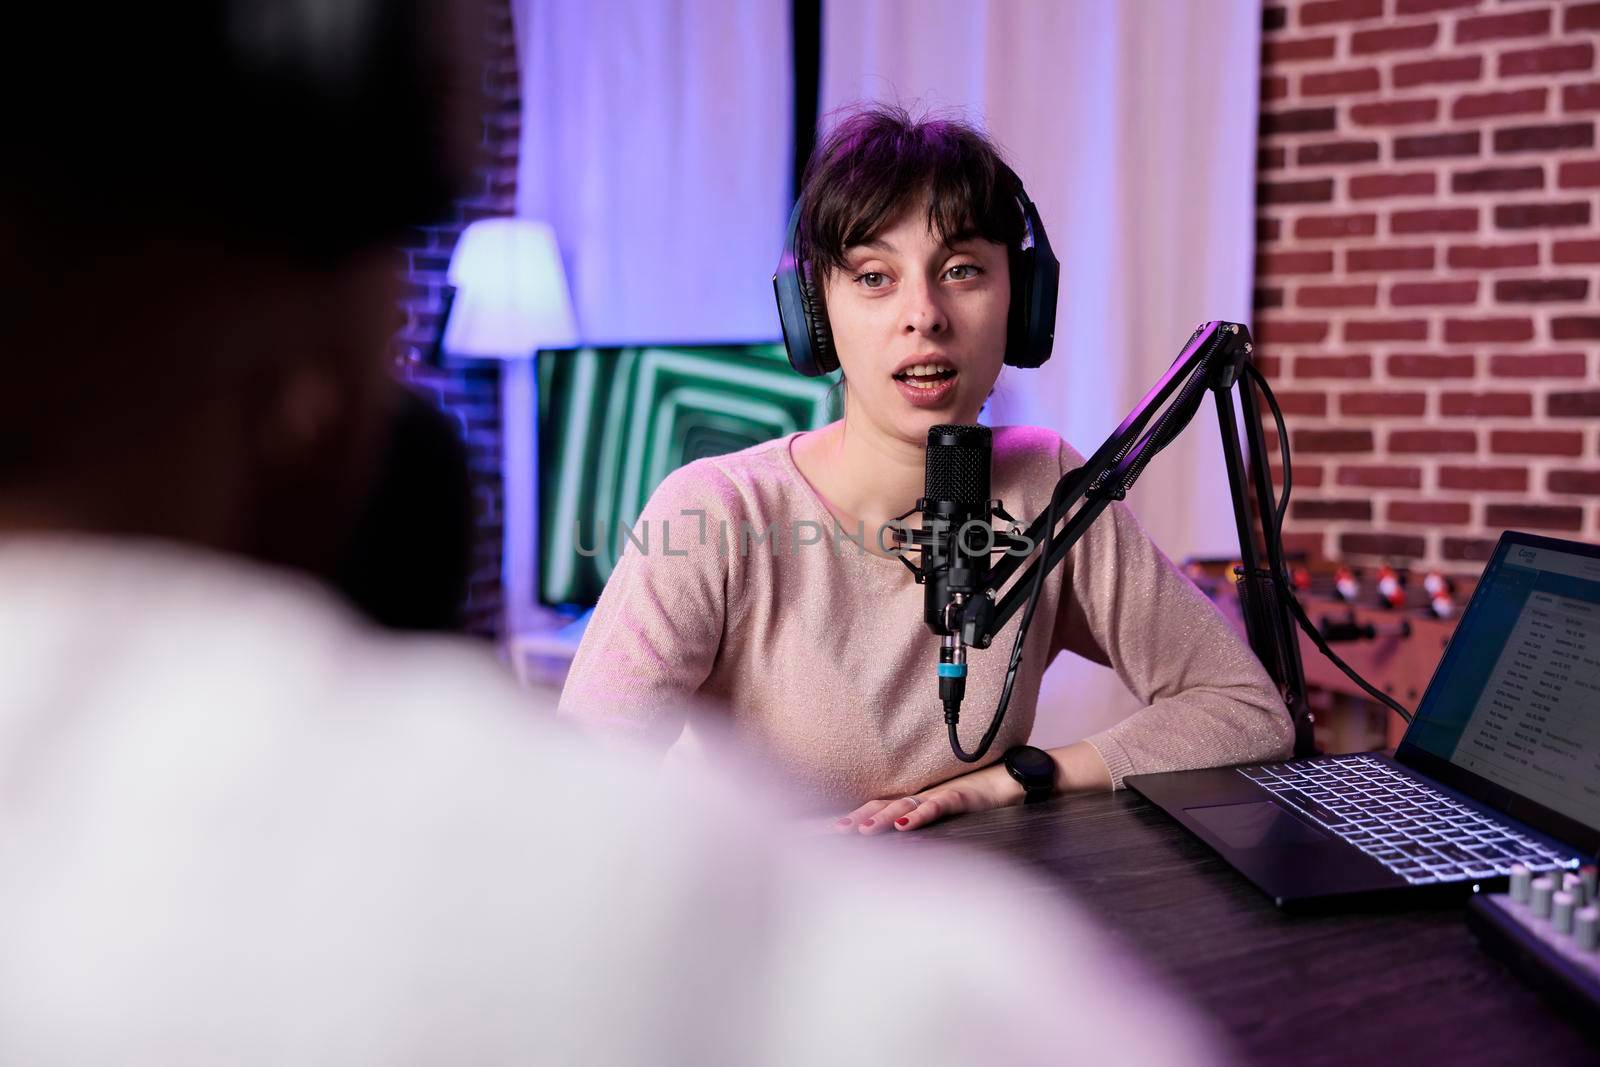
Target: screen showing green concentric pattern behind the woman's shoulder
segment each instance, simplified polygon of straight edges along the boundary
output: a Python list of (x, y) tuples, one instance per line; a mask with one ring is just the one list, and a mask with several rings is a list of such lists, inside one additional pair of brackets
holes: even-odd
[[(834, 381), (800, 378), (778, 344), (541, 352), (539, 600), (592, 605), (662, 478), (824, 426)], [(674, 550), (690, 534), (674, 526)]]

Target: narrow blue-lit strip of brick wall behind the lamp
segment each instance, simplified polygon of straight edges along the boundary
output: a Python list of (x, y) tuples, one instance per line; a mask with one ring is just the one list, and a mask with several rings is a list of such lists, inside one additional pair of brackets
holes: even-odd
[(406, 296), (405, 325), (395, 338), (395, 363), (403, 379), (432, 395), (459, 419), (472, 456), (475, 531), (472, 587), (466, 619), (472, 632), (494, 637), (502, 622), (501, 550), (504, 486), (501, 482), (499, 368), (493, 363), (451, 363), (443, 370), (418, 360), (440, 330), (445, 272), (462, 227), (474, 219), (512, 214), (517, 200), (517, 138), (522, 99), (509, 0), (477, 0), (483, 6), (486, 40), (483, 69), (482, 158), (474, 189), (454, 218), (419, 229), (402, 250)]

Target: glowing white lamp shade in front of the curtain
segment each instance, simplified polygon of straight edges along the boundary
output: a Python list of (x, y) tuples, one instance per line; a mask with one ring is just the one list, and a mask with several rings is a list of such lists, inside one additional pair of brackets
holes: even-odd
[(450, 283), (456, 286), (445, 325), (450, 355), (506, 360), (578, 344), (562, 253), (546, 222), (470, 224), (450, 258)]

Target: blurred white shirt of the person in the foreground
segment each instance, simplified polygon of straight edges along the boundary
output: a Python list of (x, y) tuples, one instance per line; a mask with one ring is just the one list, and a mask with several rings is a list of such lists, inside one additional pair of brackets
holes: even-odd
[(1038, 886), (530, 699), (293, 576), (0, 541), (0, 1062), (1216, 1062)]

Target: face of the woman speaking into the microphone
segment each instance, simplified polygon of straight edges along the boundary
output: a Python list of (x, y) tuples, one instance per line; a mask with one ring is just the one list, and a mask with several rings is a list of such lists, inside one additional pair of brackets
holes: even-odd
[(976, 422), (1005, 362), (1011, 270), (1003, 245), (949, 243), (917, 202), (872, 242), (845, 250), (824, 288), (846, 419), (923, 446), (941, 422)]

